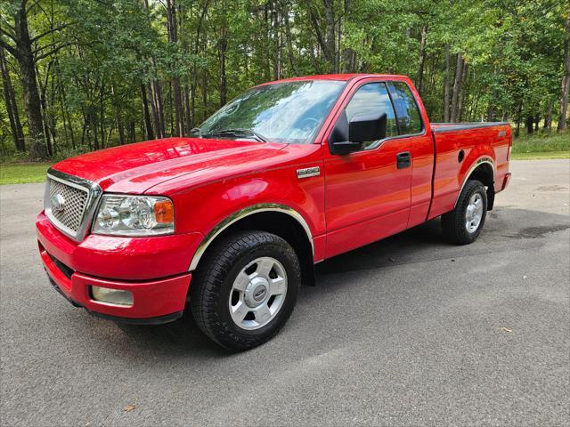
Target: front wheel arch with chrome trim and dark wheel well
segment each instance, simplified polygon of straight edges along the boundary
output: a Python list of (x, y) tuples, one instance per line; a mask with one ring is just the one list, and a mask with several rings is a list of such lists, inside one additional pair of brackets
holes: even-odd
[(238, 230), (267, 231), (286, 240), (297, 253), (303, 282), (314, 284), (314, 242), (308, 223), (292, 207), (273, 203), (250, 205), (219, 222), (200, 242), (188, 270), (199, 267), (202, 256), (218, 238)]

